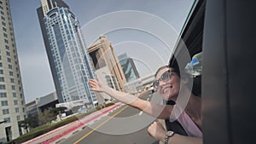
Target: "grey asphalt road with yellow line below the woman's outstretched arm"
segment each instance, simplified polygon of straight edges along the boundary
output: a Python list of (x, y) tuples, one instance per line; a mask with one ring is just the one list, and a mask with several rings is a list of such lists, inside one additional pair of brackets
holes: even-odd
[[(148, 92), (141, 95), (141, 98), (150, 101), (152, 95)], [(87, 125), (73, 135), (62, 139), (61, 144), (158, 144), (148, 135), (148, 125), (155, 118), (133, 108), (124, 105), (107, 117)]]

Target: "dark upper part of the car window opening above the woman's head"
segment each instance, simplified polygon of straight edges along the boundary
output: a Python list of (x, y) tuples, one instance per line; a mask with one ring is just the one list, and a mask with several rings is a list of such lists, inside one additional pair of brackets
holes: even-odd
[(202, 51), (204, 15), (205, 1), (195, 1), (170, 58), (170, 66), (176, 66), (177, 60), (183, 60), (185, 53), (189, 52), (190, 59), (179, 61), (178, 64), (180, 68), (184, 68), (195, 54)]

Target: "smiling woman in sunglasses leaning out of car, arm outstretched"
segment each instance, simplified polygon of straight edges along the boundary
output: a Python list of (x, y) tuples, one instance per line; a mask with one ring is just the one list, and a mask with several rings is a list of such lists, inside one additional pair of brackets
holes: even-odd
[[(162, 66), (155, 74), (154, 87), (163, 96), (166, 101), (177, 101), (177, 97), (180, 93), (180, 86), (186, 85), (188, 79), (180, 79), (180, 73), (168, 66)], [(124, 92), (111, 89), (106, 84), (96, 79), (90, 80), (90, 86), (92, 90), (97, 92), (105, 92), (108, 95), (113, 96), (115, 99), (122, 101), (131, 107), (136, 107), (143, 112), (155, 118), (169, 119), (172, 110), (175, 106), (172, 105), (160, 105), (150, 103), (137, 98), (135, 95), (126, 94)], [(172, 131), (166, 132), (160, 123), (154, 122), (148, 127), (149, 135), (155, 139), (164, 141), (165, 143), (202, 143), (201, 134), (201, 98), (191, 93), (189, 88), (183, 87), (182, 94), (190, 95), (187, 106), (184, 112), (178, 115), (177, 120), (182, 124), (183, 129), (189, 136), (183, 136), (174, 134)], [(170, 138), (172, 137), (172, 138)], [(171, 140), (172, 139), (172, 140)]]

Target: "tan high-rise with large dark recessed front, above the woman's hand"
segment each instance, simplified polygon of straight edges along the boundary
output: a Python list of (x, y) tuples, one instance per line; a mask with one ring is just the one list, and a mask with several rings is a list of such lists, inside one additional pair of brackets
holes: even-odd
[(123, 89), (126, 83), (125, 74), (119, 64), (112, 43), (108, 42), (108, 38), (106, 36), (100, 36), (99, 40), (91, 44), (88, 50), (90, 61), (95, 71), (104, 66), (108, 66), (110, 75), (116, 78), (119, 89)]

